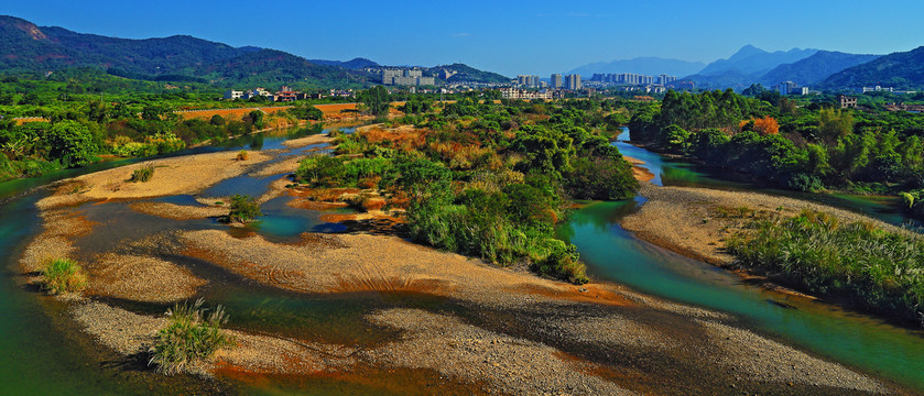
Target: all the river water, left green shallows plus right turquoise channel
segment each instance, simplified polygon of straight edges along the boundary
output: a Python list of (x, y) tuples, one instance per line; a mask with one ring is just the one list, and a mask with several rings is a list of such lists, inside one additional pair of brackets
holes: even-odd
[[(314, 131), (317, 132), (317, 131)], [(347, 131), (349, 132), (349, 131)], [(220, 146), (200, 147), (182, 154), (216, 150), (281, 148), (281, 142), (303, 135), (281, 133), (226, 142)], [(624, 140), (626, 134), (621, 135)], [(659, 154), (619, 141), (616, 143), (628, 156), (644, 161), (660, 185), (686, 185), (727, 189), (758, 189), (747, 184), (724, 182), (709, 169), (663, 157)], [(293, 151), (291, 155), (300, 155)], [(18, 277), (17, 261), (22, 250), (40, 230), (40, 219), (34, 208), (36, 200), (47, 191), (39, 186), (78, 174), (120, 166), (131, 161), (97, 164), (89, 168), (51, 174), (42, 178), (14, 180), (0, 184), (0, 384), (3, 394), (196, 394), (216, 391), (228, 392), (226, 385), (203, 382), (188, 376), (164, 377), (145, 370), (142, 358), (123, 363), (115, 353), (99, 351), (89, 337), (69, 322), (59, 302), (44, 298), (36, 290), (22, 286)], [(276, 177), (278, 178), (278, 177)], [(224, 190), (259, 195), (274, 178), (236, 177), (213, 187), (214, 195)], [(866, 212), (879, 219), (901, 223), (905, 219), (892, 209), (884, 198), (852, 196), (805, 196), (800, 198), (823, 200), (826, 204)], [(188, 204), (189, 197), (169, 197), (164, 200)], [(278, 198), (264, 206), (268, 219), (258, 232), (267, 238), (285, 240), (303, 231), (336, 232), (339, 224), (322, 221), (317, 212), (286, 209), (285, 198)], [(748, 327), (771, 338), (798, 345), (814, 353), (860, 371), (895, 381), (924, 392), (924, 334), (920, 331), (890, 326), (882, 320), (845, 311), (836, 306), (792, 297), (760, 287), (749, 286), (722, 270), (671, 253), (635, 239), (622, 230), (620, 219), (643, 205), (643, 199), (622, 202), (595, 202), (575, 211), (559, 237), (577, 245), (590, 274), (601, 280), (627, 285), (639, 292), (729, 312)], [(137, 232), (156, 232), (155, 218), (120, 209), (119, 204), (86, 208), (86, 216), (112, 217), (124, 215), (108, 231), (95, 232), (93, 238), (79, 241), (81, 250), (93, 251), (102, 243), (106, 233), (117, 233), (131, 224), (148, 224)], [(217, 228), (209, 221), (189, 221), (185, 228)], [(257, 331), (286, 333), (294, 329), (311, 328), (315, 337), (345, 343), (374, 344), (385, 337), (377, 333), (362, 316), (371, 308), (425, 307), (433, 309), (464, 310), (452, 301), (422, 295), (358, 293), (337, 297), (306, 297), (254, 283), (203, 263), (185, 263), (203, 277), (218, 279), (200, 292), (210, 304), (222, 304), (233, 312), (229, 326)], [(163, 312), (164, 306), (109, 301), (134, 311)], [(784, 302), (784, 304), (781, 304)], [(371, 307), (371, 308), (370, 308)], [(427, 374), (382, 373), (388, 386), (357, 384), (337, 378), (313, 380), (311, 383), (293, 380), (260, 384), (253, 378), (231, 385), (231, 391), (242, 393), (285, 394), (407, 394), (417, 383), (434, 383), (439, 378)], [(402, 374), (402, 373), (398, 373)], [(372, 374), (374, 377), (374, 374)], [(455, 389), (450, 393), (463, 393)]]

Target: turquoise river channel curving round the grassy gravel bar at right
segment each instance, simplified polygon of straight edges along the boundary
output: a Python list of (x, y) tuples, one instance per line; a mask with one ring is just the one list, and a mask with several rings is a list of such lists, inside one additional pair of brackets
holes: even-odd
[[(644, 167), (655, 175), (653, 183), (657, 185), (758, 189), (710, 177), (708, 169), (637, 147), (627, 139), (627, 133), (621, 134), (616, 145), (624, 155), (644, 161)], [(820, 201), (891, 223), (909, 221), (883, 198), (761, 190)], [(829, 304), (750, 286), (724, 270), (640, 241), (619, 226), (619, 220), (639, 205), (643, 205), (643, 199), (596, 202), (577, 210), (569, 224), (559, 230), (563, 239), (577, 245), (581, 260), (596, 278), (733, 314), (767, 336), (924, 391), (924, 332), (891, 326)]]

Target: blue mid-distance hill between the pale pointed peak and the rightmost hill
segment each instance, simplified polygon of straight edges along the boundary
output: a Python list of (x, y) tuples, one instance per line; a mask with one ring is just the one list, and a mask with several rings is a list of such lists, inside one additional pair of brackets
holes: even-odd
[(776, 66), (758, 81), (764, 86), (773, 86), (781, 81), (794, 81), (802, 86), (815, 85), (828, 76), (848, 67), (865, 64), (881, 55), (858, 55), (836, 51), (818, 51), (802, 61)]

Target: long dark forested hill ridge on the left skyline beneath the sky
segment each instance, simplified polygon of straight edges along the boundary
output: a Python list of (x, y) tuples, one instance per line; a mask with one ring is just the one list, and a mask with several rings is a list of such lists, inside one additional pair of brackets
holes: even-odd
[[(55, 72), (96, 67), (121, 77), (193, 80), (231, 86), (295, 84), (368, 85), (370, 75), (340, 65), (258, 47), (232, 47), (187, 35), (130, 40), (76, 33), (0, 15), (0, 72)], [(345, 65), (346, 66), (346, 63)]]

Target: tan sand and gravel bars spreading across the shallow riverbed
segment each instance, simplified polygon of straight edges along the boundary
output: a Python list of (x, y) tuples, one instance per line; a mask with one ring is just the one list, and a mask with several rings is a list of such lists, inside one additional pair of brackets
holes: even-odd
[[(257, 284), (279, 289), (291, 299), (373, 293), (442, 301), (356, 308), (361, 311), (360, 326), (384, 334), (384, 340), (376, 343), (326, 339), (313, 328), (290, 330), (300, 337), (280, 334), (260, 324), (236, 324), (237, 317), (253, 314), (231, 311), (229, 326), (239, 340), (238, 348), (220, 351), (214, 364), (200, 367), (203, 374), (219, 378), (250, 373), (272, 382), (278, 380), (273, 375), (330, 377), (358, 372), (358, 377), (349, 381), (361, 382), (363, 371), (357, 367), (371, 366), (435, 372), (441, 383), (476, 386), (486, 394), (902, 393), (744, 330), (733, 317), (615, 284), (576, 286), (392, 235), (306, 232), (297, 242), (273, 242), (253, 232), (216, 224), (202, 229), (203, 223), (184, 222), (213, 215), (215, 208), (187, 212), (175, 204), (143, 202), (146, 197), (181, 194), (209, 198), (195, 194), (230, 177), (260, 174), (261, 168), (274, 166), (270, 160), (279, 155), (252, 154), (254, 160), (247, 162), (230, 160), (236, 153), (154, 162), (152, 182), (171, 175), (185, 180), (180, 184), (131, 188), (124, 185), (131, 166), (62, 183), (55, 195), (40, 201), (44, 231), (28, 249), (33, 261), (28, 265), (21, 262), (20, 271), (34, 274), (43, 257), (59, 254), (91, 261), (86, 263), (93, 270), (90, 282), (100, 282), (94, 280), (95, 276), (104, 280), (126, 277), (141, 284), (139, 288), (91, 287), (84, 297), (61, 301), (69, 307), (81, 330), (98, 340), (99, 348), (111, 348), (126, 359), (144, 353), (152, 333), (163, 326), (162, 317), (87, 297), (118, 298), (131, 307), (196, 298), (209, 287), (236, 283), (241, 288), (257, 288)], [(284, 178), (273, 183), (267, 195), (291, 194), (280, 187), (284, 183)], [(67, 188), (75, 185), (81, 188)], [(132, 209), (154, 215), (146, 221), (170, 227), (152, 228), (151, 234), (113, 241), (93, 251), (78, 242), (106, 226), (81, 218), (89, 200), (99, 202), (94, 210), (116, 210), (117, 204), (129, 201)], [(139, 273), (138, 266), (144, 271), (132, 277)], [(171, 280), (176, 276), (182, 282)], [(174, 283), (185, 286), (156, 296), (157, 285)], [(434, 392), (452, 386), (437, 384)]]

